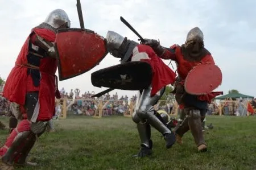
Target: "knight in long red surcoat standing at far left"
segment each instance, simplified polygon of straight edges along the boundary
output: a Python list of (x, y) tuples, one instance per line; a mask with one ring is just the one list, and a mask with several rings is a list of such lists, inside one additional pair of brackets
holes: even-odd
[(60, 97), (53, 42), (57, 31), (70, 25), (64, 10), (53, 10), (42, 24), (32, 28), (20, 50), (3, 89), (3, 96), (11, 102), (13, 130), (0, 148), (0, 169), (27, 164), (27, 155), (36, 138), (43, 134), (53, 117), (55, 96)]

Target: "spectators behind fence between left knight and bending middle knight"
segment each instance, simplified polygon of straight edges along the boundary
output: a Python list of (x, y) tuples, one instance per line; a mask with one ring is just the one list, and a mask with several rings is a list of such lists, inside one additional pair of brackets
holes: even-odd
[(91, 98), (95, 93), (94, 92), (85, 92), (84, 94), (80, 93), (79, 89), (71, 89), (71, 91), (65, 92), (65, 89), (60, 90), (61, 100), (59, 105), (63, 104), (63, 100), (67, 102), (68, 113), (78, 114), (78, 115), (88, 115), (92, 116), (95, 114), (95, 111), (98, 109), (100, 101), (102, 101), (102, 115), (123, 115), (123, 113), (128, 109), (129, 102), (136, 101), (137, 95), (129, 98), (127, 96), (118, 97), (118, 94), (115, 93), (110, 96), (109, 93), (104, 94), (100, 98)]

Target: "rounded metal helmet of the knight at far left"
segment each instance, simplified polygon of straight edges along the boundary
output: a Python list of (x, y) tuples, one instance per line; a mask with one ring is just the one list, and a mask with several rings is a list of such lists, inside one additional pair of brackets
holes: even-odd
[(51, 13), (48, 14), (46, 20), (44, 20), (44, 23), (49, 24), (55, 29), (60, 28), (61, 26), (65, 26), (68, 28), (70, 28), (71, 26), (68, 14), (61, 9), (51, 11)]

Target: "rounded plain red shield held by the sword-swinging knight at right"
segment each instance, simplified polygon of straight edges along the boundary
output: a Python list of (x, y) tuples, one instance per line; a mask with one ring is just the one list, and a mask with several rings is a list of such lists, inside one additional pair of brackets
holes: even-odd
[(185, 91), (189, 94), (203, 95), (212, 92), (222, 82), (222, 73), (215, 64), (199, 64), (185, 79)]

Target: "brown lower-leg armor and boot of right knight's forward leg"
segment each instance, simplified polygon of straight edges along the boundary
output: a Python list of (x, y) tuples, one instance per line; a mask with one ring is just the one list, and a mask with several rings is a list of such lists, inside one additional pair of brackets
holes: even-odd
[(205, 140), (204, 140), (202, 124), (201, 124), (201, 114), (199, 110), (192, 109), (189, 111), (188, 125), (195, 139), (195, 143), (197, 145), (198, 151), (200, 152), (207, 151), (207, 144), (205, 143)]

